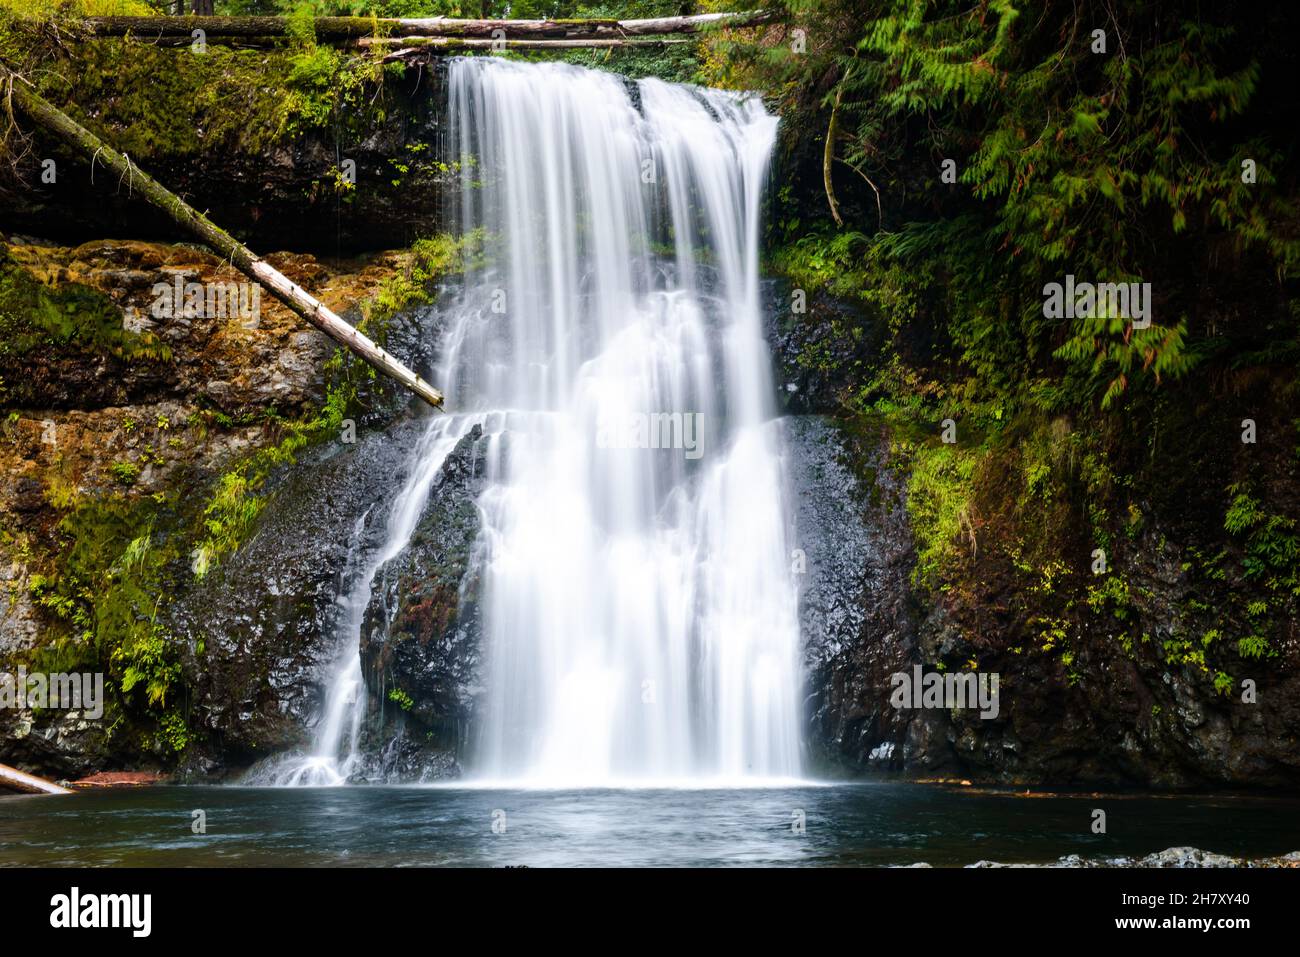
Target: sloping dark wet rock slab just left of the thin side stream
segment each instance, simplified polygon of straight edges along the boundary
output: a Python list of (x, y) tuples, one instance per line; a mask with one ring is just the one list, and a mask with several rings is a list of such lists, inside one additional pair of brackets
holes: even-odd
[(256, 534), (172, 607), (208, 736), (198, 770), (304, 744), (339, 653), (338, 596), (382, 545), (422, 421), (330, 442), (280, 476)]

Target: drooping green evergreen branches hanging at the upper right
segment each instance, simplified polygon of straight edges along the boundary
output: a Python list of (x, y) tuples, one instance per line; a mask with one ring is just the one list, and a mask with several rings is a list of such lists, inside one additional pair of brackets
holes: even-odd
[[(841, 289), (919, 308), (967, 397), (1110, 406), (1245, 343), (1294, 358), (1294, 316), (1266, 326), (1217, 294), (1277, 302), (1296, 278), (1280, 8), (785, 7), (788, 25), (760, 43), (731, 40), (723, 73), (776, 91), (794, 135), (826, 131), (838, 103), (832, 189), (855, 215), (832, 229), (785, 209), (777, 238), (833, 263)], [(1150, 328), (1046, 319), (1043, 286), (1067, 273), (1150, 282)]]

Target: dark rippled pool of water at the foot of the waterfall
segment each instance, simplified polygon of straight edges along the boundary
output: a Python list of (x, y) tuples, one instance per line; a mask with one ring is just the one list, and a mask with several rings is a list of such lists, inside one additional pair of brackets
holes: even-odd
[[(1093, 809), (1106, 833), (1092, 832)], [(207, 833), (194, 833), (195, 811)], [(800, 832), (798, 824), (803, 823)], [(880, 866), (1300, 849), (1300, 798), (919, 784), (144, 788), (0, 798), (4, 866)]]

